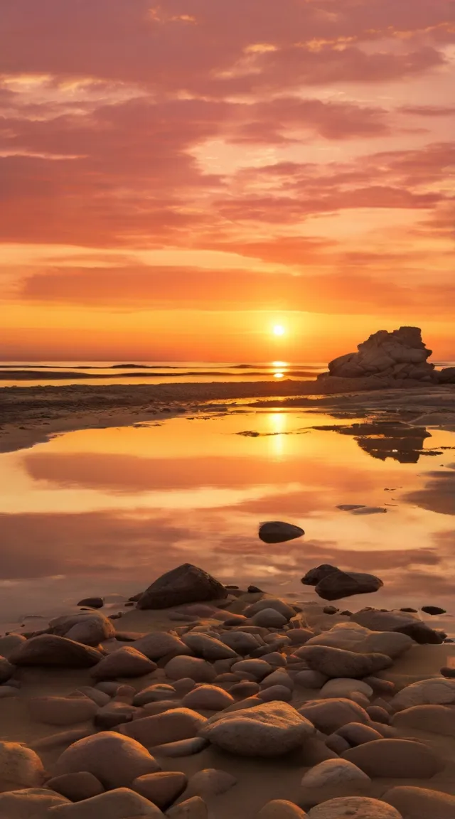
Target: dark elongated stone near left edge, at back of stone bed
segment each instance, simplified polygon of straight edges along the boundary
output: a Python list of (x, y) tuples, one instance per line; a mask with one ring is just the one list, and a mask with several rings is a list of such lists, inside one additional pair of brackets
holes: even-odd
[(18, 666), (63, 668), (89, 668), (102, 658), (99, 651), (88, 645), (53, 634), (30, 637), (10, 655), (11, 663)]

